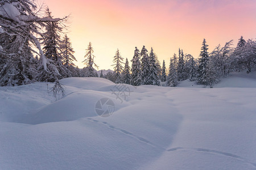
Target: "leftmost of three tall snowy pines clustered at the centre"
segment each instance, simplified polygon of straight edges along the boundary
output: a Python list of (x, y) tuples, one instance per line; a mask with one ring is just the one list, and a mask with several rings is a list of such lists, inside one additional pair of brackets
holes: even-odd
[(131, 85), (139, 86), (142, 84), (141, 61), (139, 60), (139, 49), (134, 50), (133, 59), (131, 59)]

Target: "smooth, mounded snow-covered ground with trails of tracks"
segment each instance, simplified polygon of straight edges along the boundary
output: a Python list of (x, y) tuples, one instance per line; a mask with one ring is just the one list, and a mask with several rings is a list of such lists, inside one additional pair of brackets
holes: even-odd
[(0, 169), (256, 169), (255, 73), (214, 88), (61, 83), (59, 101), (51, 83), (0, 87)]

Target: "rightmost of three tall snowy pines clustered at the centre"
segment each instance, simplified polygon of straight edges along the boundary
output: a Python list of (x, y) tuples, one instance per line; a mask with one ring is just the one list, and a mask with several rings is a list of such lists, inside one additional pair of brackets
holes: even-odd
[(151, 47), (150, 56), (148, 57), (148, 80), (147, 84), (159, 86), (160, 82), (158, 80), (158, 66), (156, 65), (155, 53), (153, 52), (153, 48)]

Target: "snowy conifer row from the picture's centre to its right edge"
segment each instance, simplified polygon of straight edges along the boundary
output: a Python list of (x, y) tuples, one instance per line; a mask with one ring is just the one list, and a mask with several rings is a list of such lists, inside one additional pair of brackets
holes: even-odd
[[(191, 54), (184, 54), (179, 49), (178, 54), (170, 58), (170, 65), (166, 68), (163, 60), (162, 67), (158, 58), (151, 48), (150, 53), (145, 46), (141, 52), (135, 47), (131, 68), (126, 58), (123, 67), (123, 57), (119, 50), (114, 56), (114, 73), (108, 73), (100, 77), (112, 80), (114, 83), (126, 83), (133, 86), (156, 85), (176, 87), (180, 81), (196, 81), (197, 84), (213, 87), (220, 78), (226, 77), (233, 71), (251, 70), (256, 67), (256, 41), (247, 40), (243, 37), (238, 41), (236, 48), (232, 47), (232, 41), (226, 42), (209, 53), (206, 40), (203, 40), (199, 58), (194, 58)], [(162, 82), (162, 83), (160, 83)]]

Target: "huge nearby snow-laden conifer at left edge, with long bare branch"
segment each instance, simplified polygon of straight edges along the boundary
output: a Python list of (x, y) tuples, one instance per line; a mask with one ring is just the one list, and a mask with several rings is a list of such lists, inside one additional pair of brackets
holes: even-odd
[(41, 65), (46, 72), (49, 62), (43, 54), (36, 36), (48, 21), (59, 22), (61, 19), (40, 18), (36, 15), (36, 5), (30, 0), (13, 0), (0, 2), (1, 50), (0, 56), (4, 64), (0, 66), (0, 85), (17, 86), (31, 83), (35, 75), (35, 45), (39, 51)]

